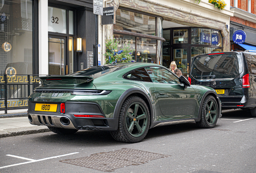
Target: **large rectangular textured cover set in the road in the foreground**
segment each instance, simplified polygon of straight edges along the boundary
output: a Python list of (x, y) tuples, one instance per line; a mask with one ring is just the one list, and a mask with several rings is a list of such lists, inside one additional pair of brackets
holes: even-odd
[(170, 157), (170, 155), (123, 148), (117, 151), (97, 153), (87, 157), (66, 159), (60, 162), (97, 169), (99, 171), (113, 172), (114, 169), (131, 165), (141, 165), (148, 161), (165, 157)]

